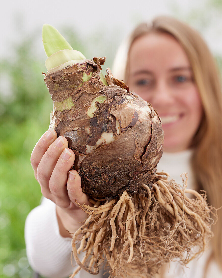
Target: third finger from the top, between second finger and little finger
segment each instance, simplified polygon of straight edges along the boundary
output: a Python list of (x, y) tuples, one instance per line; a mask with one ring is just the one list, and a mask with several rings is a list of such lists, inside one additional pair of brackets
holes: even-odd
[(60, 155), (49, 180), (49, 190), (55, 197), (59, 207), (67, 208), (70, 199), (67, 192), (67, 177), (75, 160), (75, 154), (70, 149), (65, 149)]

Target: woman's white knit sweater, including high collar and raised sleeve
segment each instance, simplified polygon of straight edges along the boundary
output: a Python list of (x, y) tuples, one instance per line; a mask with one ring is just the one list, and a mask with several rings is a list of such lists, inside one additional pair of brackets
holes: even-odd
[[(189, 175), (188, 188), (193, 187), (193, 178), (190, 168), (192, 150), (177, 153), (163, 153), (157, 170), (164, 170), (181, 184), (180, 175), (187, 172)], [(45, 277), (68, 277), (75, 268), (70, 264), (71, 239), (59, 234), (56, 217), (56, 205), (46, 198), (41, 205), (33, 209), (27, 216), (25, 223), (25, 241), (27, 257), (32, 268)], [(205, 264), (210, 256), (210, 249), (199, 258), (191, 261), (187, 267), (181, 267), (178, 262), (171, 262), (169, 272), (165, 278), (203, 278)], [(74, 264), (74, 262), (73, 262)], [(76, 278), (104, 278), (101, 271), (98, 275), (91, 275), (81, 270)], [(214, 261), (211, 261), (206, 278), (222, 278), (222, 272)]]

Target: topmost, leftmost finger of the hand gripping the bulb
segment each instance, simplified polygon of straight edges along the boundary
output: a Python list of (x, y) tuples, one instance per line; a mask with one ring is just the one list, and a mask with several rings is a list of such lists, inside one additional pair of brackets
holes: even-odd
[(36, 143), (31, 153), (31, 165), (35, 173), (35, 178), (36, 178), (37, 167), (39, 165), (39, 162), (41, 161), (41, 158), (43, 157), (44, 153), (47, 151), (49, 146), (52, 144), (52, 142), (56, 140), (56, 138), (57, 138), (56, 131), (50, 128), (42, 135), (42, 137)]

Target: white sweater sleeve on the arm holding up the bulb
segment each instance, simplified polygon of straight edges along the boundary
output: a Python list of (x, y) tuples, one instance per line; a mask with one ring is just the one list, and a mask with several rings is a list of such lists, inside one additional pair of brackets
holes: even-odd
[(45, 277), (63, 278), (74, 271), (70, 262), (71, 238), (60, 235), (56, 205), (51, 200), (43, 198), (41, 205), (27, 216), (25, 242), (29, 263), (39, 274)]

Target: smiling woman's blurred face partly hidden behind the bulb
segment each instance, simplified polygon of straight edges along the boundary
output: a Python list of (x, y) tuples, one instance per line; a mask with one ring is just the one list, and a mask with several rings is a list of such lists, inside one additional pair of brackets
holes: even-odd
[(201, 99), (184, 49), (173, 36), (150, 33), (129, 51), (127, 85), (152, 103), (163, 122), (164, 150), (189, 147), (203, 115)]

